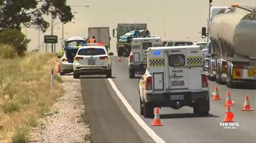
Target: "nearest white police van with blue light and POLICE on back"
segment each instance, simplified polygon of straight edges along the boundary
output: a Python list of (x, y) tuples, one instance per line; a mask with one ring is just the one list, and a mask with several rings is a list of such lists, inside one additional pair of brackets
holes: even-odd
[(151, 118), (154, 107), (193, 107), (209, 114), (209, 89), (200, 46), (150, 47), (147, 69), (139, 80), (140, 114)]

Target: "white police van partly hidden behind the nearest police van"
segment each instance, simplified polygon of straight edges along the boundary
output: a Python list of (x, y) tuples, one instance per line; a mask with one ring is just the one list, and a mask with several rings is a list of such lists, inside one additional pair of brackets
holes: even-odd
[(128, 58), (129, 77), (136, 74), (144, 74), (147, 67), (146, 51), (149, 47), (161, 47), (160, 37), (133, 38), (131, 41), (131, 53)]

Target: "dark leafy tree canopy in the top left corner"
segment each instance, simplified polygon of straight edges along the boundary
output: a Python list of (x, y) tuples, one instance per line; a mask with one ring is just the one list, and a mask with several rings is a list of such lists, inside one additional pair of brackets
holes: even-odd
[(49, 22), (43, 15), (71, 22), (73, 14), (66, 0), (0, 0), (0, 31), (6, 28), (21, 30), (21, 24), (45, 32)]

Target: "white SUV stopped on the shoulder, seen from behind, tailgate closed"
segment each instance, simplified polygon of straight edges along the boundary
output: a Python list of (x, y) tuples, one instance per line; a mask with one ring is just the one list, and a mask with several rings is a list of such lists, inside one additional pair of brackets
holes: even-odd
[(111, 59), (114, 55), (107, 52), (102, 45), (85, 45), (80, 47), (73, 62), (73, 77), (80, 78), (80, 75), (106, 74), (107, 78), (112, 77)]

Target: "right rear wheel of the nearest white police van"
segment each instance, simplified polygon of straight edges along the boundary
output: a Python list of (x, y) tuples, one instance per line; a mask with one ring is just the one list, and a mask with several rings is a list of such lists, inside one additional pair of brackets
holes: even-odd
[(210, 101), (209, 98), (207, 100), (201, 100), (193, 107), (194, 114), (198, 116), (209, 116), (210, 110)]

